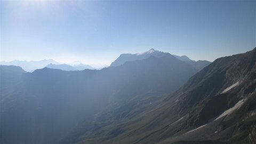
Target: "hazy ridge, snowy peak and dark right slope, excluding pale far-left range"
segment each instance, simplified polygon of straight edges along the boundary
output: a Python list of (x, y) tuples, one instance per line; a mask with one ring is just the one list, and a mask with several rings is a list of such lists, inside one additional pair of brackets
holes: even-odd
[(0, 143), (256, 143), (256, 48), (212, 63), (150, 49), (101, 70), (0, 68)]

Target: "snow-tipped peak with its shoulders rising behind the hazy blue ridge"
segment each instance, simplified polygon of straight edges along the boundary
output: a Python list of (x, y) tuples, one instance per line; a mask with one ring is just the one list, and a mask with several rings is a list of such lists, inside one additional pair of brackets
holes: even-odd
[[(169, 54), (169, 53), (159, 52), (158, 50), (155, 50), (153, 48), (149, 49), (147, 52), (144, 52), (144, 53), (121, 54), (113, 63), (110, 64), (110, 66), (122, 65), (125, 62), (142, 60), (142, 59), (148, 58), (150, 56), (162, 57), (165, 54)], [(185, 55), (184, 56), (173, 55), (173, 56), (175, 58), (178, 58), (181, 61), (189, 63), (190, 65), (195, 67), (197, 70), (202, 70), (203, 67), (205, 67), (211, 63), (209, 61), (193, 61), (193, 60), (190, 60), (190, 58), (188, 58)]]

